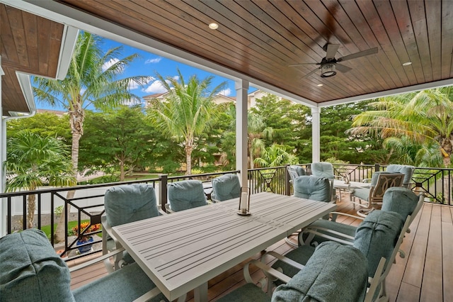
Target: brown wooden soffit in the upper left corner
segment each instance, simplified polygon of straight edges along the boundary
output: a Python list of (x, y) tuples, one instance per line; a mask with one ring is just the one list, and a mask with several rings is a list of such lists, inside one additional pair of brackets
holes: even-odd
[(0, 22), (2, 115), (28, 113), (16, 72), (55, 78), (64, 26), (4, 4)]

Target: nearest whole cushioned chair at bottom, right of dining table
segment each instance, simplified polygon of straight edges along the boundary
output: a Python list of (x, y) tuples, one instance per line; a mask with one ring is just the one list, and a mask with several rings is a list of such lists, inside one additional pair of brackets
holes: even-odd
[[(383, 262), (384, 263), (384, 262)], [(250, 264), (265, 270), (267, 275), (281, 278), (283, 284), (268, 295), (256, 286), (248, 271)], [(378, 270), (378, 273), (381, 272)], [(259, 260), (244, 267), (246, 285), (235, 289), (219, 302), (248, 301), (371, 301), (374, 291), (367, 292), (367, 259), (355, 247), (337, 242), (323, 242), (292, 278)], [(377, 280), (378, 278), (374, 279)], [(374, 281), (376, 283), (376, 281)], [(376, 289), (377, 286), (373, 288)]]

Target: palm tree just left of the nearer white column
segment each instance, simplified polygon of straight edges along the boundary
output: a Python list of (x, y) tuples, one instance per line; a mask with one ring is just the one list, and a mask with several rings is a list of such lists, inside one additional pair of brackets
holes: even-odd
[(209, 91), (212, 79), (206, 77), (202, 81), (193, 75), (188, 82), (178, 69), (178, 77), (156, 77), (168, 91), (166, 101), (154, 102), (148, 115), (151, 123), (166, 135), (182, 142), (185, 150), (186, 174), (192, 173), (192, 152), (196, 147), (197, 138), (212, 126), (219, 116), (220, 106), (216, 106), (212, 99), (224, 89), (226, 82), (222, 82)]

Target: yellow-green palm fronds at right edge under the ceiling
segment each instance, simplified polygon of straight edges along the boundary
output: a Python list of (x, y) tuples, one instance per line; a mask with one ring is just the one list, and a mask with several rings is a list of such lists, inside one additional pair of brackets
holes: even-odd
[[(437, 145), (444, 167), (450, 166), (453, 152), (453, 89), (442, 87), (411, 94), (389, 96), (371, 103), (375, 111), (355, 116), (349, 133), (403, 138), (413, 145)], [(421, 156), (421, 155), (420, 155)]]

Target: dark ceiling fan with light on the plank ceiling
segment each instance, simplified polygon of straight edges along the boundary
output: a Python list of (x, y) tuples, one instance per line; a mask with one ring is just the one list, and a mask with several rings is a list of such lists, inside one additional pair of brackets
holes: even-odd
[(335, 58), (336, 52), (340, 47), (339, 44), (326, 44), (323, 46), (323, 50), (326, 52), (326, 57), (323, 57), (323, 60), (319, 63), (301, 63), (301, 64), (292, 64), (288, 65), (289, 67), (295, 67), (300, 65), (320, 65), (318, 68), (312, 70), (308, 74), (305, 74), (304, 77), (308, 77), (310, 74), (314, 74), (318, 69), (321, 69), (321, 77), (333, 77), (337, 74), (336, 70), (339, 72), (348, 72), (352, 68), (338, 64), (338, 62), (343, 62), (357, 57), (365, 57), (366, 55), (374, 55), (377, 53), (377, 47), (370, 48), (369, 50), (362, 50), (360, 52), (355, 52), (350, 55), (345, 55), (344, 57)]

